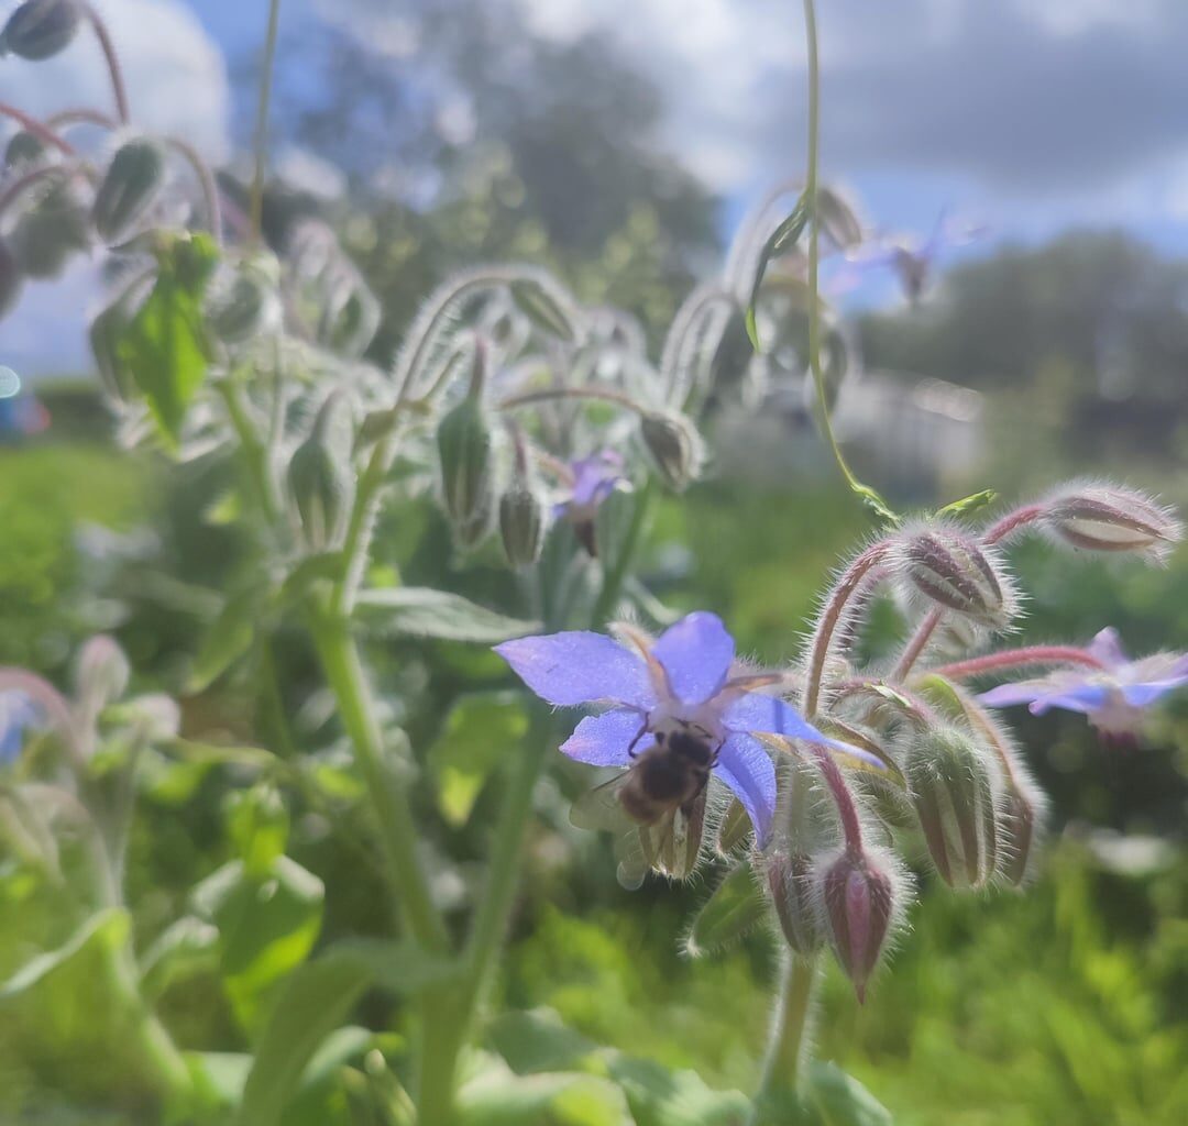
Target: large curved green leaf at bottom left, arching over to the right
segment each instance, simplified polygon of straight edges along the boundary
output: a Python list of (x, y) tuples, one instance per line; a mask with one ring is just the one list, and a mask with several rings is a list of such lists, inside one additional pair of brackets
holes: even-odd
[(238, 1121), (282, 1121), (318, 1048), (369, 987), (410, 995), (441, 982), (453, 969), (453, 963), (411, 944), (371, 940), (340, 942), (302, 966), (285, 982), (258, 1038)]

